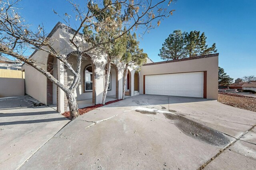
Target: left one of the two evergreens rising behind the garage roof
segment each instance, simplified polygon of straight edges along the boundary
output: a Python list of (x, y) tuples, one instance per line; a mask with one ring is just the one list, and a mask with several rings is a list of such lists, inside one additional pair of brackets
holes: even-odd
[(186, 50), (186, 33), (182, 33), (181, 30), (174, 30), (163, 43), (160, 54), (158, 54), (163, 60), (175, 60), (182, 59), (187, 56)]

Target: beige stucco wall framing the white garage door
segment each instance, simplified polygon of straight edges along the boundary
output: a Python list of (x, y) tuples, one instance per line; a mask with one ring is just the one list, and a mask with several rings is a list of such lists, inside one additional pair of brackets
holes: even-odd
[(173, 63), (142, 66), (140, 70), (140, 94), (143, 94), (143, 76), (181, 72), (207, 71), (207, 99), (218, 99), (218, 57), (208, 57)]

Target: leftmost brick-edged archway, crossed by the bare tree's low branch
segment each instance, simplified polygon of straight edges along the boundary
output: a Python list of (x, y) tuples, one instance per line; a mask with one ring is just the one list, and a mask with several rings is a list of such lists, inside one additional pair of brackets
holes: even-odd
[[(47, 71), (50, 72), (54, 78), (58, 79), (58, 63), (57, 59), (52, 55), (49, 55), (47, 59)], [(56, 105), (58, 109), (58, 86), (52, 83), (48, 78), (46, 82), (46, 104), (48, 106)]]

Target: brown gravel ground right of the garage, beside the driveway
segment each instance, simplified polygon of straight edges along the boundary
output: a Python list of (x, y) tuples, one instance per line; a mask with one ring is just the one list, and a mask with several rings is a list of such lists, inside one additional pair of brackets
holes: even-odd
[(236, 94), (219, 93), (218, 102), (256, 112), (256, 98)]

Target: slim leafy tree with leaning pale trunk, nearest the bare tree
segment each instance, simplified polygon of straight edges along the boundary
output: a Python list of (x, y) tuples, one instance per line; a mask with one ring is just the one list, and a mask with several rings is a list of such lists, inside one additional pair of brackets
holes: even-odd
[[(99, 8), (98, 5), (91, 4), (93, 8), (90, 8), (90, 12), (94, 14), (100, 14), (100, 11), (106, 8), (109, 3), (112, 3), (112, 1), (104, 0), (102, 8)], [(101, 48), (94, 50), (95, 53), (100, 53), (100, 51), (103, 51), (103, 53), (107, 55), (105, 75), (106, 78), (104, 82), (102, 104), (105, 104), (106, 95), (108, 92), (111, 63), (116, 59), (120, 59), (120, 57), (122, 57), (126, 50), (125, 43), (122, 41), (121, 38), (118, 38), (115, 41), (111, 41), (111, 39), (118, 37), (122, 33), (122, 22), (124, 21), (123, 17), (125, 15), (120, 16), (121, 10), (122, 6), (119, 3), (109, 6), (108, 8), (106, 8), (104, 13), (101, 13), (101, 15), (96, 15), (96, 21), (94, 22), (93, 31), (88, 27), (84, 27), (83, 29), (84, 37), (88, 43), (91, 43), (91, 45), (101, 42), (108, 42), (103, 43), (101, 45)]]

